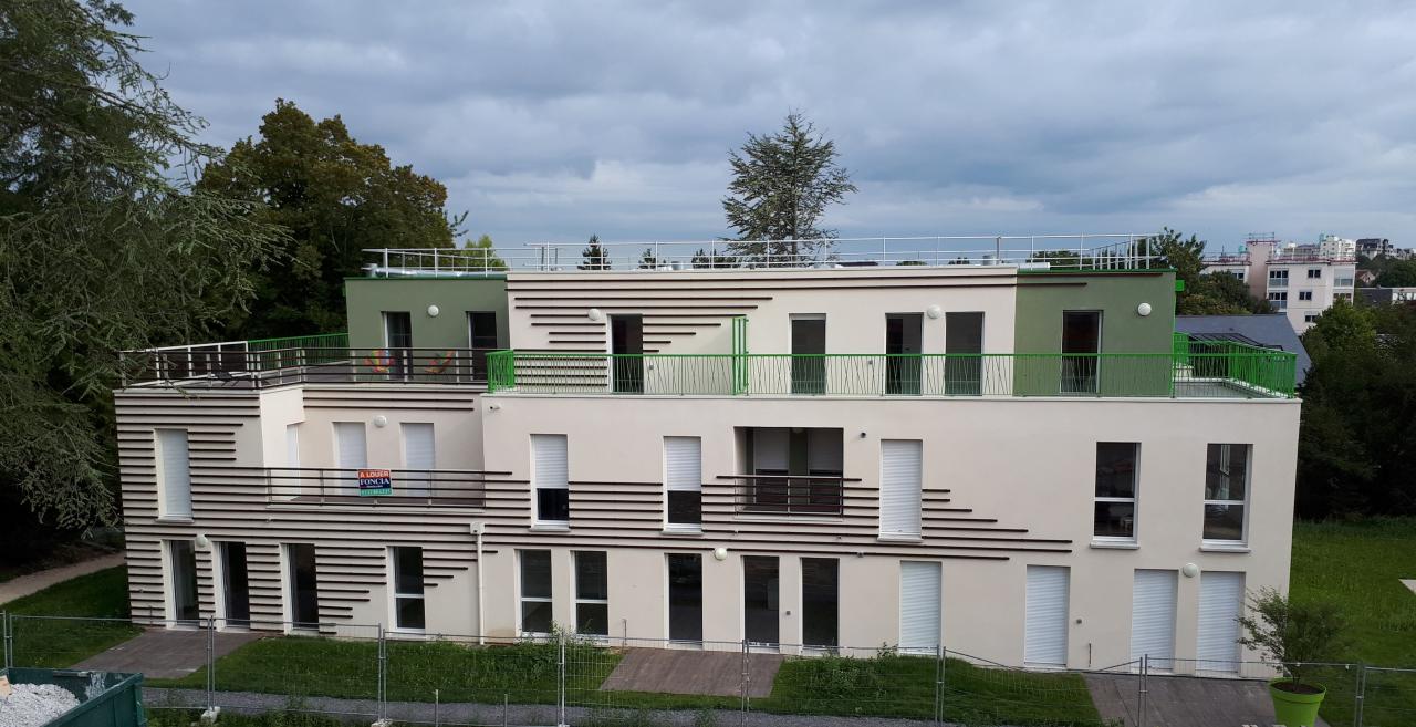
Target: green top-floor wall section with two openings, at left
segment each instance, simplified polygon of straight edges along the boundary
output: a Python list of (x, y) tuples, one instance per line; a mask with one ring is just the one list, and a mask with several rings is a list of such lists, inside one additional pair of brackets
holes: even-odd
[[(413, 322), (413, 347), (466, 349), (467, 312), (496, 310), (497, 344), (506, 347), (507, 282), (481, 278), (348, 278), (344, 281), (350, 346), (384, 346), (385, 310), (406, 310)], [(438, 317), (428, 306), (439, 308)]]

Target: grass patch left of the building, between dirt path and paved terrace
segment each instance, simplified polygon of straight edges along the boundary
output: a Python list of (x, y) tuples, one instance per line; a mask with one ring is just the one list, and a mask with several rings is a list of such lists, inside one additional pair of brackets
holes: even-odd
[(37, 594), (17, 598), (4, 609), (16, 618), (16, 666), (62, 669), (108, 650), (142, 633), (126, 621), (82, 621), (127, 618), (127, 568), (108, 568), (54, 584)]

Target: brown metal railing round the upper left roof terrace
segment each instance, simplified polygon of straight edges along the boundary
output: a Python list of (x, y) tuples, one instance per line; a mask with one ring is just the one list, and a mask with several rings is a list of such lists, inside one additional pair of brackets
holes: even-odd
[(262, 351), (204, 346), (123, 351), (125, 385), (266, 388), (286, 384), (487, 383), (494, 349), (292, 347)]

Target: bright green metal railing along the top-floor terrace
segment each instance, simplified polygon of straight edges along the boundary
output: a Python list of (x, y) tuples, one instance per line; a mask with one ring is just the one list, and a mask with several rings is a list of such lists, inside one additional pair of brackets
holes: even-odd
[(525, 394), (1293, 397), (1291, 353), (1194, 343), (1103, 354), (487, 354), (487, 388)]

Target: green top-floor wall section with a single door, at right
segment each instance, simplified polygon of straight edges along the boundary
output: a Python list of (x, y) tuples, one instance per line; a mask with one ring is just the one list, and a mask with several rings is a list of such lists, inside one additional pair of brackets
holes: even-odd
[[(1151, 305), (1151, 315), (1136, 312)], [(1103, 361), (1096, 374), (1100, 395), (1171, 395), (1171, 360), (1175, 330), (1174, 272), (1042, 272), (1018, 276), (1018, 313), (1014, 325), (1017, 353), (1062, 351), (1065, 310), (1102, 312), (1102, 353), (1153, 354)], [(1066, 364), (1037, 360), (1015, 373), (1017, 388), (1027, 395), (1056, 395), (1065, 385)], [(1034, 370), (1058, 367), (1056, 374)], [(1076, 381), (1072, 381), (1075, 384)], [(1085, 395), (1085, 394), (1082, 394)]]

